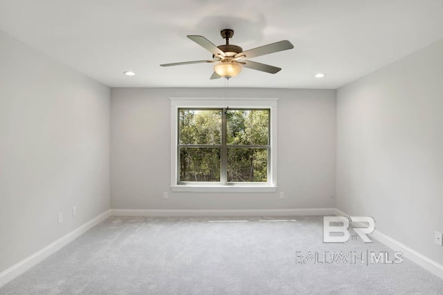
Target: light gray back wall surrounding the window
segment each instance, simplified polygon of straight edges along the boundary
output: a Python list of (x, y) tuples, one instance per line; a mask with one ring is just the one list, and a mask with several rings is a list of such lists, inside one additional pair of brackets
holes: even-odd
[(224, 97), (223, 88), (111, 90), (111, 208), (334, 207), (335, 91), (230, 88), (228, 97), (278, 97), (277, 193), (170, 193), (170, 97)]

